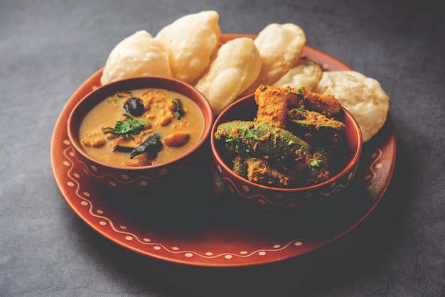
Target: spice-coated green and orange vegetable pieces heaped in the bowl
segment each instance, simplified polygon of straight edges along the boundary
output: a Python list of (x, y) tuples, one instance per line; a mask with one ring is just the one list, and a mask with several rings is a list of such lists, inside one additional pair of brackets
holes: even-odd
[(213, 135), (237, 174), (279, 188), (314, 185), (344, 166), (340, 104), (335, 97), (260, 85), (257, 117), (218, 125)]

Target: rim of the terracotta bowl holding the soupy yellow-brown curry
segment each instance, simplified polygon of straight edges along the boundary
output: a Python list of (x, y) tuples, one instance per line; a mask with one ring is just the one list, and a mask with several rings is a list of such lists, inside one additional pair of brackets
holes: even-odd
[[(163, 82), (164, 84), (166, 84), (167, 82), (173, 83), (173, 85), (175, 87), (180, 87), (181, 90), (188, 90), (188, 92), (191, 92), (193, 94), (195, 94), (195, 98), (198, 98), (198, 100), (200, 100), (202, 102), (202, 105), (199, 104), (198, 102), (196, 102), (195, 99), (192, 99), (196, 104), (198, 104), (200, 111), (203, 113), (203, 117), (204, 117), (204, 126), (203, 126), (203, 132), (200, 136), (200, 140), (195, 144), (195, 146), (193, 146), (193, 148), (191, 148), (189, 151), (187, 151), (186, 153), (183, 153), (181, 156), (178, 156), (176, 158), (173, 158), (169, 161), (163, 162), (163, 163), (159, 163), (159, 164), (154, 164), (154, 165), (147, 165), (147, 166), (139, 166), (139, 167), (132, 167), (132, 166), (117, 166), (117, 165), (112, 165), (109, 163), (105, 163), (102, 161), (97, 160), (96, 158), (93, 158), (92, 156), (88, 155), (85, 150), (82, 148), (82, 146), (80, 145), (80, 142), (77, 141), (78, 139), (78, 135), (76, 136), (73, 130), (76, 130), (75, 127), (73, 127), (73, 121), (75, 120), (75, 115), (77, 114), (78, 110), (80, 109), (80, 107), (82, 107), (83, 104), (87, 104), (87, 102), (90, 100), (90, 98), (92, 96), (94, 96), (97, 92), (101, 92), (102, 90), (107, 90), (108, 88), (110, 88), (111, 90), (114, 90), (115, 88), (117, 88), (117, 86), (119, 85), (127, 85), (130, 83), (133, 84), (144, 84), (145, 82)], [(150, 87), (133, 87), (133, 89), (137, 89), (137, 88), (150, 88)], [(165, 87), (153, 87), (153, 88), (157, 88), (157, 89), (163, 89), (163, 90), (168, 90)], [(180, 94), (183, 95), (183, 92), (178, 91), (178, 90), (169, 90), (172, 92), (178, 92)], [(187, 95), (184, 95), (186, 97)], [(104, 98), (105, 99), (105, 98)], [(98, 104), (100, 102), (100, 100), (97, 101), (96, 104)], [(204, 108), (202, 108), (201, 106), (203, 106)], [(83, 117), (85, 117), (85, 114), (83, 114)], [(83, 119), (82, 117), (82, 119)], [(209, 121), (206, 124), (205, 118), (208, 117)], [(213, 126), (213, 122), (215, 119), (215, 115), (213, 114), (213, 109), (210, 105), (210, 102), (208, 102), (207, 97), (205, 97), (203, 95), (202, 92), (200, 92), (198, 89), (196, 89), (195, 87), (193, 87), (192, 85), (189, 85), (186, 82), (183, 82), (181, 80), (178, 80), (176, 78), (173, 77), (161, 77), (161, 76), (138, 76), (138, 77), (127, 77), (127, 78), (123, 78), (121, 80), (114, 80), (113, 82), (109, 82), (105, 85), (100, 85), (99, 87), (95, 88), (94, 90), (88, 92), (87, 95), (85, 95), (84, 97), (82, 97), (82, 99), (79, 100), (79, 102), (77, 102), (75, 104), (75, 106), (73, 107), (73, 109), (71, 109), (70, 114), (68, 115), (68, 121), (67, 121), (67, 132), (68, 132), (68, 139), (70, 140), (70, 143), (72, 144), (73, 148), (75, 149), (75, 151), (77, 153), (80, 153), (80, 155), (82, 155), (82, 158), (87, 159), (88, 161), (97, 164), (98, 166), (102, 166), (102, 167), (107, 167), (113, 170), (120, 170), (120, 171), (142, 171), (142, 170), (148, 170), (148, 169), (156, 169), (156, 168), (162, 168), (168, 165), (171, 165), (172, 163), (176, 163), (177, 161), (180, 161), (181, 159), (187, 158), (188, 156), (190, 156), (192, 153), (194, 153), (195, 151), (198, 150), (198, 148), (200, 148), (201, 146), (203, 146), (203, 144), (205, 144), (205, 141), (207, 141), (208, 137), (210, 136), (210, 132), (212, 130), (212, 126)], [(82, 120), (80, 120), (82, 121)]]

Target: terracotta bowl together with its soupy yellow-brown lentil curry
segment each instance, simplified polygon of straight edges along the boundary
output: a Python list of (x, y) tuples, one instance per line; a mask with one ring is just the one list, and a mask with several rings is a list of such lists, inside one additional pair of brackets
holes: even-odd
[(171, 188), (202, 159), (213, 119), (208, 100), (191, 85), (132, 77), (82, 98), (68, 117), (68, 137), (92, 180), (149, 194)]

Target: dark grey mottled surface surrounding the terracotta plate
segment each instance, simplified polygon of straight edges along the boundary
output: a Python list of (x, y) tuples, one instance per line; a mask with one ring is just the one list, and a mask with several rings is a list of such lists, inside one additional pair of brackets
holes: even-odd
[[(308, 45), (381, 82), (397, 168), (355, 232), (302, 259), (179, 266), (109, 242), (60, 195), (50, 139), (70, 95), (123, 38), (207, 9), (223, 33), (296, 23)], [(434, 1), (1, 0), (0, 296), (443, 296), (444, 32)]]

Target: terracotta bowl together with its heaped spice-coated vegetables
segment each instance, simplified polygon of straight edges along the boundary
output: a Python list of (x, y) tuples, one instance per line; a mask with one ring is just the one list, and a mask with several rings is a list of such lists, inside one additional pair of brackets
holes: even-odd
[(335, 97), (260, 85), (218, 116), (210, 145), (232, 196), (257, 210), (294, 213), (348, 187), (363, 141)]

